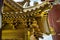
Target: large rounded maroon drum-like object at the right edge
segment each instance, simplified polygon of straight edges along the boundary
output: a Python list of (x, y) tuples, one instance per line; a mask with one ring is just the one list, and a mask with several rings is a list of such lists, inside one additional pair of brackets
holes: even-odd
[(54, 5), (48, 13), (48, 21), (51, 27), (54, 28), (56, 35), (53, 35), (53, 40), (60, 40), (60, 4)]

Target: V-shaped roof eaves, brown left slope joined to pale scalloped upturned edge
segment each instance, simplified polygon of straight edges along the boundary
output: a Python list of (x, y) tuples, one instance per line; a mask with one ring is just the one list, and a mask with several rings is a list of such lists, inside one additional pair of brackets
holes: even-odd
[[(11, 5), (9, 5), (9, 4), (11, 4)], [(13, 6), (13, 5), (15, 5), (15, 6)], [(4, 1), (4, 8), (5, 8), (4, 11), (6, 10), (5, 12), (8, 12), (9, 10), (14, 10), (14, 12), (21, 12), (21, 13), (23, 13), (23, 12), (32, 11), (32, 10), (36, 11), (36, 9), (41, 10), (42, 8), (45, 7), (45, 5), (48, 6), (48, 5), (50, 5), (50, 3), (49, 2), (44, 2), (44, 3), (38, 4), (36, 6), (32, 6), (32, 7), (29, 6), (27, 8), (23, 8), (19, 3), (16, 3), (14, 1), (8, 1), (8, 2)], [(7, 10), (7, 9), (9, 9), (9, 10)]]

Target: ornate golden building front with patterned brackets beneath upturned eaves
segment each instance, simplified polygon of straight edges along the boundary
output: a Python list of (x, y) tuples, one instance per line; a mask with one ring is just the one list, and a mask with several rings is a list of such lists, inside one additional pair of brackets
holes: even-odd
[[(40, 36), (42, 38), (43, 33), (50, 34), (48, 26), (44, 28), (44, 23), (47, 20), (47, 13), (44, 11), (50, 8), (51, 5), (49, 2), (23, 8), (19, 3), (12, 0), (4, 0), (4, 10), (2, 13), (2, 39), (28, 40), (28, 36), (31, 36), (28, 32), (31, 31), (30, 33), (32, 34), (33, 27), (36, 27), (37, 31), (35, 32), (38, 34), (35, 35), (37, 37)], [(41, 15), (44, 14), (45, 17), (42, 17)], [(47, 24), (47, 22), (45, 24)], [(39, 28), (37, 28), (37, 26), (39, 26)]]

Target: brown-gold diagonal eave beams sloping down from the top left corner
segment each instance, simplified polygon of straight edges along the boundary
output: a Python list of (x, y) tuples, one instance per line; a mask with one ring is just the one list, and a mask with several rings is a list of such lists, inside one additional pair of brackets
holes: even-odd
[(4, 4), (10, 7), (14, 11), (22, 11), (22, 6), (13, 0), (4, 0)]

